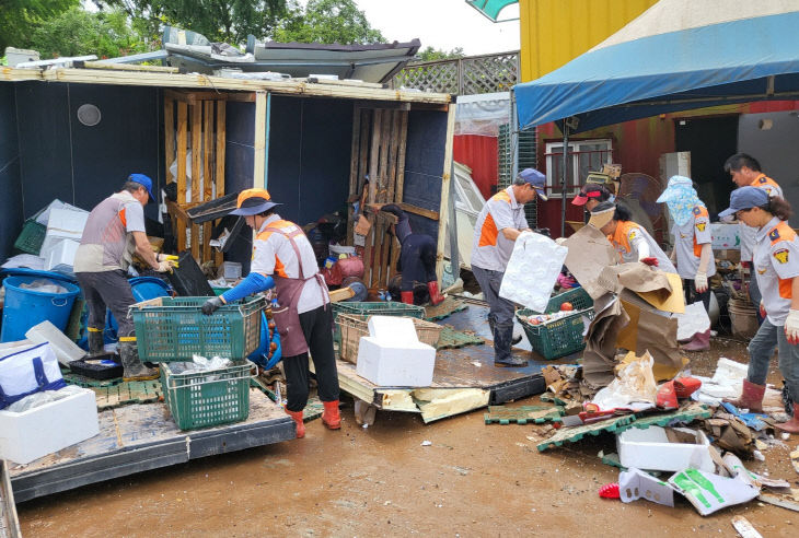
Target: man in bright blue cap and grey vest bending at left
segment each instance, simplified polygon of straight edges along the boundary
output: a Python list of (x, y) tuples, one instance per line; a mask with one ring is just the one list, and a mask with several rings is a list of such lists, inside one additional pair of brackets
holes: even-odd
[(152, 179), (144, 174), (130, 174), (119, 192), (89, 213), (74, 255), (74, 273), (89, 305), (89, 355), (103, 353), (107, 306), (119, 326), (124, 381), (155, 379), (159, 375), (157, 369), (148, 369), (139, 360), (134, 320), (128, 313), (136, 300), (126, 277), (134, 253), (155, 271), (165, 272), (172, 268), (164, 255), (152, 250), (144, 232), (143, 208), (151, 198)]

